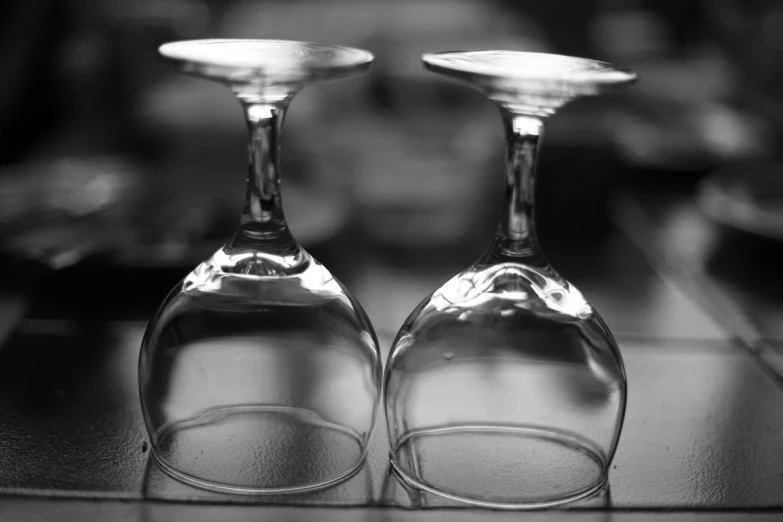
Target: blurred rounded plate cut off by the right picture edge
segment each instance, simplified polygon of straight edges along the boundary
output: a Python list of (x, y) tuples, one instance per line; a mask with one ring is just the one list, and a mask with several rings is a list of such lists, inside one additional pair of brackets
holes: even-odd
[(730, 228), (783, 241), (783, 164), (737, 164), (704, 178), (696, 202)]

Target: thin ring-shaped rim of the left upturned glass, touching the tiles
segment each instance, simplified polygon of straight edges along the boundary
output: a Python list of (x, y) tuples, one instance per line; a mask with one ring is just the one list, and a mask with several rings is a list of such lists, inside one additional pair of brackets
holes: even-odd
[[(153, 443), (151, 444), (151, 454), (155, 461), (155, 463), (158, 465), (158, 467), (167, 475), (170, 477), (187, 484), (189, 486), (193, 486), (199, 489), (203, 489), (206, 491), (211, 491), (214, 493), (225, 493), (225, 494), (233, 494), (233, 495), (243, 495), (243, 496), (259, 496), (259, 497), (268, 497), (268, 496), (275, 496), (275, 495), (293, 495), (293, 494), (299, 494), (299, 493), (307, 493), (312, 491), (318, 491), (322, 489), (327, 489), (333, 486), (336, 486), (337, 484), (344, 482), (348, 480), (349, 478), (356, 475), (364, 466), (365, 462), (367, 461), (367, 454), (369, 448), (367, 447), (366, 441), (362, 441), (362, 438), (353, 430), (346, 428), (345, 426), (340, 426), (338, 424), (332, 424), (326, 421), (323, 421), (323, 419), (320, 418), (320, 416), (313, 412), (312, 410), (305, 409), (305, 408), (296, 408), (296, 407), (289, 407), (289, 406), (273, 406), (273, 405), (235, 405), (235, 406), (219, 406), (216, 408), (210, 408), (206, 412), (202, 412), (201, 415), (204, 415), (205, 413), (212, 413), (215, 411), (220, 410), (241, 410), (241, 409), (247, 409), (247, 408), (253, 408), (253, 409), (263, 409), (263, 410), (280, 410), (280, 409), (293, 409), (293, 410), (303, 410), (307, 413), (310, 413), (321, 420), (324, 424), (329, 425), (330, 429), (334, 429), (337, 431), (342, 432), (350, 432), (351, 435), (359, 442), (361, 447), (361, 453), (359, 455), (359, 458), (348, 468), (341, 471), (340, 473), (333, 475), (329, 478), (326, 478), (324, 480), (318, 481), (318, 482), (312, 482), (307, 484), (301, 484), (301, 485), (294, 485), (294, 486), (276, 486), (276, 487), (269, 487), (269, 486), (243, 486), (239, 484), (231, 484), (226, 482), (219, 482), (214, 480), (205, 479), (203, 477), (199, 477), (196, 475), (193, 475), (191, 473), (184, 472), (180, 469), (177, 469), (176, 466), (172, 465), (171, 463), (167, 462), (165, 458), (163, 458), (158, 453), (157, 444)], [(161, 427), (158, 430), (158, 438), (161, 437), (161, 434), (165, 434), (169, 431), (173, 431), (171, 428), (170, 423), (168, 425), (165, 425)]]

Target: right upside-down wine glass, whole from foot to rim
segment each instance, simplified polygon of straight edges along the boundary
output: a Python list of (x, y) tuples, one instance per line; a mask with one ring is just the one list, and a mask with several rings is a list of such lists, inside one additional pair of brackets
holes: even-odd
[(423, 60), (499, 107), (506, 189), (487, 252), (419, 304), (394, 341), (384, 381), (392, 468), (411, 486), (486, 507), (584, 498), (607, 479), (625, 370), (598, 312), (539, 248), (536, 161), (557, 109), (635, 75), (542, 53)]

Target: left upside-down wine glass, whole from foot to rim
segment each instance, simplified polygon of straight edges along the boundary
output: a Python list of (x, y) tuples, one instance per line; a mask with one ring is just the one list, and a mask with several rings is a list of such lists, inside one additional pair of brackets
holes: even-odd
[(181, 41), (160, 53), (228, 85), (250, 143), (238, 230), (174, 287), (142, 341), (139, 387), (153, 455), (171, 475), (217, 491), (329, 486), (364, 462), (380, 352), (359, 303), (286, 225), (280, 133), (300, 89), (365, 72), (373, 57), (281, 40)]

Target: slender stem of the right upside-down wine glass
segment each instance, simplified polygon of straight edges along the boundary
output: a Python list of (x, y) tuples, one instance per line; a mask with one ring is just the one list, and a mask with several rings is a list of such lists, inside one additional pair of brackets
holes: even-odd
[(506, 129), (506, 188), (495, 232), (495, 256), (539, 256), (535, 228), (535, 179), (544, 122), (536, 116), (503, 112)]

